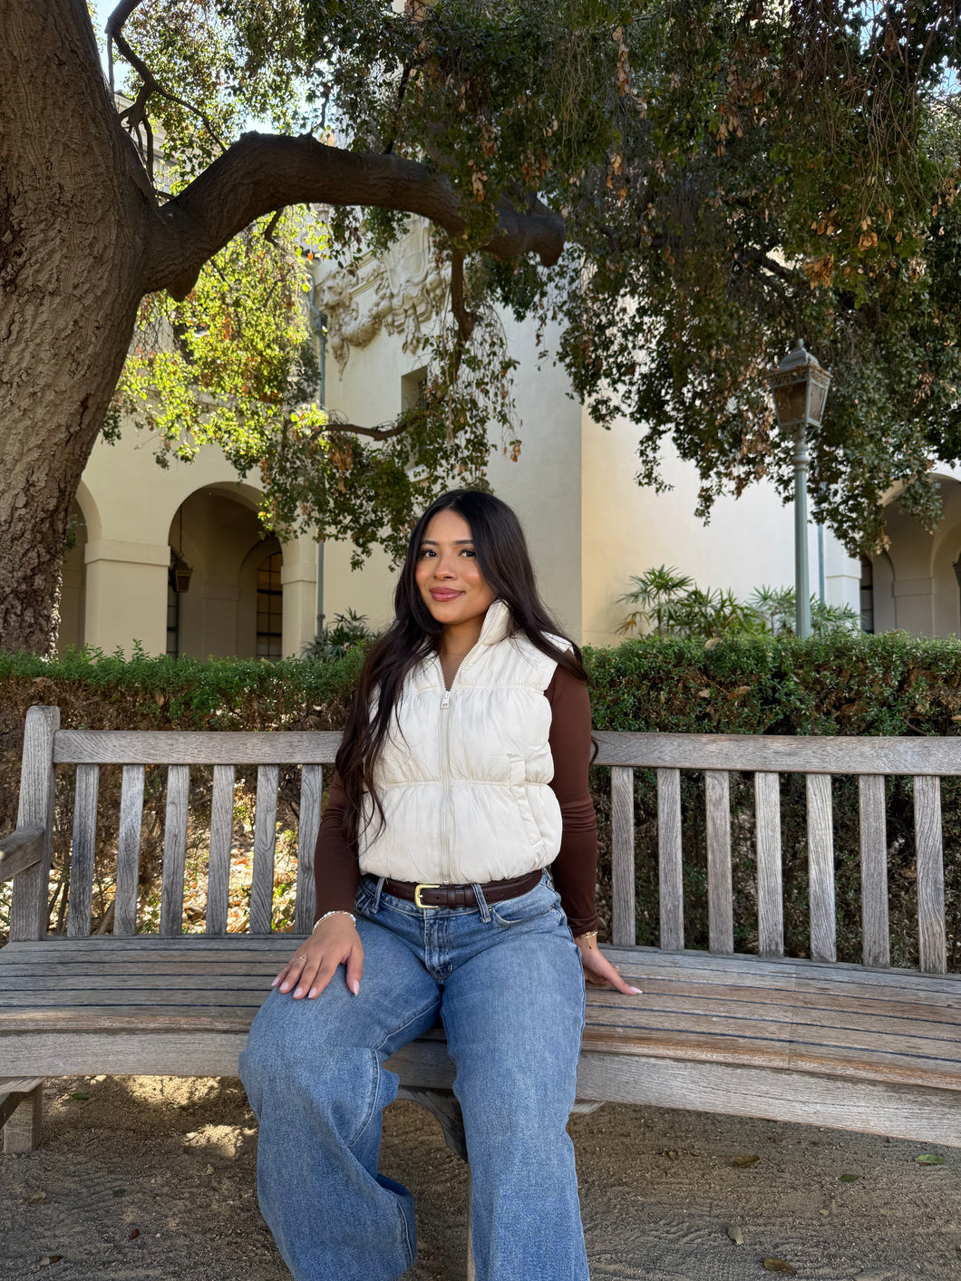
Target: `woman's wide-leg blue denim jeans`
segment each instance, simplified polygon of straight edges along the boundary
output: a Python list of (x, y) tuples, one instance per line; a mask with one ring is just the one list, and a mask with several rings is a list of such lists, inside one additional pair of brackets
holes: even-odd
[(478, 1281), (587, 1281), (566, 1132), (584, 979), (545, 875), (477, 908), (418, 908), (364, 877), (364, 975), (314, 1000), (274, 989), (240, 1070), (260, 1123), (258, 1193), (296, 1281), (393, 1281), (414, 1262), (410, 1193), (377, 1172), (383, 1063), (439, 1017), (473, 1179)]

